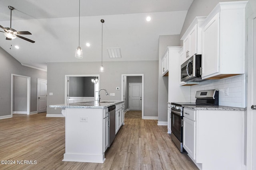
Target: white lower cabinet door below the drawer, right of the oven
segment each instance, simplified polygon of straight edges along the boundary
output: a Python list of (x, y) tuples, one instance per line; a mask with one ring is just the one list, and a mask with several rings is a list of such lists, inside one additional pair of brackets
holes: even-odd
[(196, 159), (196, 122), (183, 117), (183, 147), (188, 154)]

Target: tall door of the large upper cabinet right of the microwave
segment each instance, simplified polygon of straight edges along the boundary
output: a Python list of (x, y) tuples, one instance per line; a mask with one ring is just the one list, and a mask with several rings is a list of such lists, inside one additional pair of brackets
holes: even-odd
[(202, 78), (219, 72), (219, 27), (218, 13), (202, 30)]

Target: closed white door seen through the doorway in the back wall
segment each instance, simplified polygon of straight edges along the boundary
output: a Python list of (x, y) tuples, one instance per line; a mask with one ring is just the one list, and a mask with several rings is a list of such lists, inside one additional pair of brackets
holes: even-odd
[(129, 109), (141, 110), (142, 83), (129, 83)]

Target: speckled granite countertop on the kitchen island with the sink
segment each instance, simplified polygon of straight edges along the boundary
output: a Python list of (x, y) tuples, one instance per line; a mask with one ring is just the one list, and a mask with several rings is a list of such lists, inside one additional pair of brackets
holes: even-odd
[(56, 104), (50, 105), (49, 107), (58, 107), (58, 108), (96, 108), (96, 109), (105, 109), (109, 106), (117, 105), (123, 103), (124, 101), (90, 101), (90, 102), (80, 102), (80, 103), (70, 103), (70, 104)]

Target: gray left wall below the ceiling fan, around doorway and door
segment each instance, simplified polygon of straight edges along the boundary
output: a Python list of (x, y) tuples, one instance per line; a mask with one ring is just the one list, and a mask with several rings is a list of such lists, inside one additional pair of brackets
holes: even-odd
[(22, 66), (0, 47), (0, 116), (11, 114), (11, 74), (31, 77), (30, 111), (37, 110), (37, 78), (47, 79), (47, 73)]

